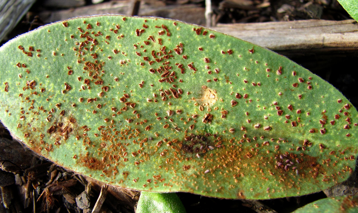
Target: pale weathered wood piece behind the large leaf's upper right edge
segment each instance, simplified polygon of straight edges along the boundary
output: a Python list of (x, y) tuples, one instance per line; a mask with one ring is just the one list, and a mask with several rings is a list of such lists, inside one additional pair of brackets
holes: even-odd
[(358, 24), (353, 19), (218, 24), (212, 29), (279, 52), (356, 51), (358, 48)]

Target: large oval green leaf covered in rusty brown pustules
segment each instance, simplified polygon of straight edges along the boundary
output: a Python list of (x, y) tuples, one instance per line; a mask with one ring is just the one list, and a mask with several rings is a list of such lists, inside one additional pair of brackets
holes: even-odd
[(0, 118), (40, 155), (153, 192), (267, 199), (352, 173), (357, 110), (267, 49), (200, 26), (75, 18), (0, 48)]

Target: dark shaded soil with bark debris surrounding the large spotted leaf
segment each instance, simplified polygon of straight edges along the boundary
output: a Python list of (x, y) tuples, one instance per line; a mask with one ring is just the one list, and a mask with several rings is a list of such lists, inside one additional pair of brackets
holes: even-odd
[[(42, 11), (58, 11), (66, 5), (46, 6), (38, 0), (8, 35), (16, 35), (44, 25), (39, 18)], [(66, 1), (65, 1), (66, 2)], [(81, 2), (81, 0), (79, 0)], [(106, 2), (106, 1), (103, 1)], [(205, 8), (204, 0), (147, 0), (150, 4), (185, 5), (194, 4)], [(91, 0), (82, 0), (82, 6), (91, 5)], [(212, 0), (214, 23), (252, 23), (266, 21), (289, 21), (302, 19), (345, 20), (349, 15), (336, 0)], [(2, 44), (5, 43), (2, 41)], [(321, 76), (337, 87), (353, 105), (358, 105), (355, 89), (357, 72), (352, 56), (332, 59), (314, 57), (291, 58), (305, 68)], [(91, 187), (88, 187), (88, 183)], [(13, 140), (0, 123), (0, 212), (89, 212), (96, 203), (101, 183), (74, 174), (48, 160), (35, 155), (21, 143)], [(88, 196), (84, 196), (87, 192)], [(82, 194), (81, 194), (82, 193)], [(86, 195), (86, 193), (84, 193)], [(82, 202), (77, 196), (82, 195)], [(261, 200), (264, 207), (255, 202), (204, 197), (190, 193), (178, 193), (187, 212), (292, 212), (305, 204), (325, 198), (323, 192), (299, 197)], [(110, 187), (100, 212), (134, 212), (139, 192)], [(77, 199), (77, 202), (76, 202)], [(265, 206), (266, 205), (266, 206)], [(88, 208), (89, 207), (89, 208)], [(84, 210), (83, 210), (84, 209)], [(92, 210), (91, 210), (92, 211)]]

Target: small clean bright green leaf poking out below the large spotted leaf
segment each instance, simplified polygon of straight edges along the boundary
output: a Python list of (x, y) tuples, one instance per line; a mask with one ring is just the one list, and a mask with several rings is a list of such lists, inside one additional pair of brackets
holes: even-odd
[(136, 213), (185, 213), (183, 203), (175, 193), (141, 192)]

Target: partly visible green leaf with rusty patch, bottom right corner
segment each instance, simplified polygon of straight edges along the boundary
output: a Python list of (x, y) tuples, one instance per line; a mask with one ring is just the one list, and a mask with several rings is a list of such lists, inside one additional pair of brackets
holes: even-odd
[(294, 211), (294, 213), (331, 213), (331, 212), (358, 212), (358, 197), (352, 195), (343, 195), (330, 197), (309, 203)]

